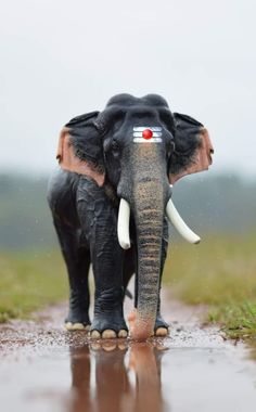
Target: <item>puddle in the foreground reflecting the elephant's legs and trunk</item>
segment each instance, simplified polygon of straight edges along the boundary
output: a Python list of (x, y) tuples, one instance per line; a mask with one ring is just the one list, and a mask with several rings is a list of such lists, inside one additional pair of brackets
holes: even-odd
[(115, 342), (2, 358), (2, 410), (255, 411), (256, 366), (240, 349)]

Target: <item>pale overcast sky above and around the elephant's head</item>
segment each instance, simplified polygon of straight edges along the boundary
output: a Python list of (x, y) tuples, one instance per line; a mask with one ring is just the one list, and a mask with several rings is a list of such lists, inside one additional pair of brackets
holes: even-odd
[(49, 171), (72, 117), (159, 93), (256, 176), (255, 0), (1, 1), (1, 169)]

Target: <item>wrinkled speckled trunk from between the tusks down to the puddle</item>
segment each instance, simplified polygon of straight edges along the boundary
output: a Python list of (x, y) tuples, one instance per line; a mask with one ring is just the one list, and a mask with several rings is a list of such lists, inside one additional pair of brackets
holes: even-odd
[(154, 333), (158, 302), (162, 235), (164, 221), (163, 181), (138, 182), (140, 199), (135, 204), (138, 243), (138, 307), (132, 338)]

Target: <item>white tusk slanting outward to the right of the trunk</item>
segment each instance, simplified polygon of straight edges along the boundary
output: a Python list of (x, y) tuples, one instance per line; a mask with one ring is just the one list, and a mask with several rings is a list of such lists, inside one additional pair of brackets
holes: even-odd
[(183, 221), (181, 216), (179, 215), (178, 210), (176, 209), (171, 198), (167, 203), (166, 206), (166, 215), (169, 219), (169, 221), (174, 224), (176, 230), (180, 233), (182, 237), (185, 239), (185, 241), (190, 243), (200, 243), (201, 239), (195, 234)]

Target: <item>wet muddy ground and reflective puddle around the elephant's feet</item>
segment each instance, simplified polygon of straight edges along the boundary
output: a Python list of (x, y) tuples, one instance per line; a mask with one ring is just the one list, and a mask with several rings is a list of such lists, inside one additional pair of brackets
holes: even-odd
[(64, 332), (66, 306), (0, 327), (0, 408), (8, 412), (251, 412), (256, 362), (201, 327), (201, 308), (165, 302), (169, 338), (92, 343)]

